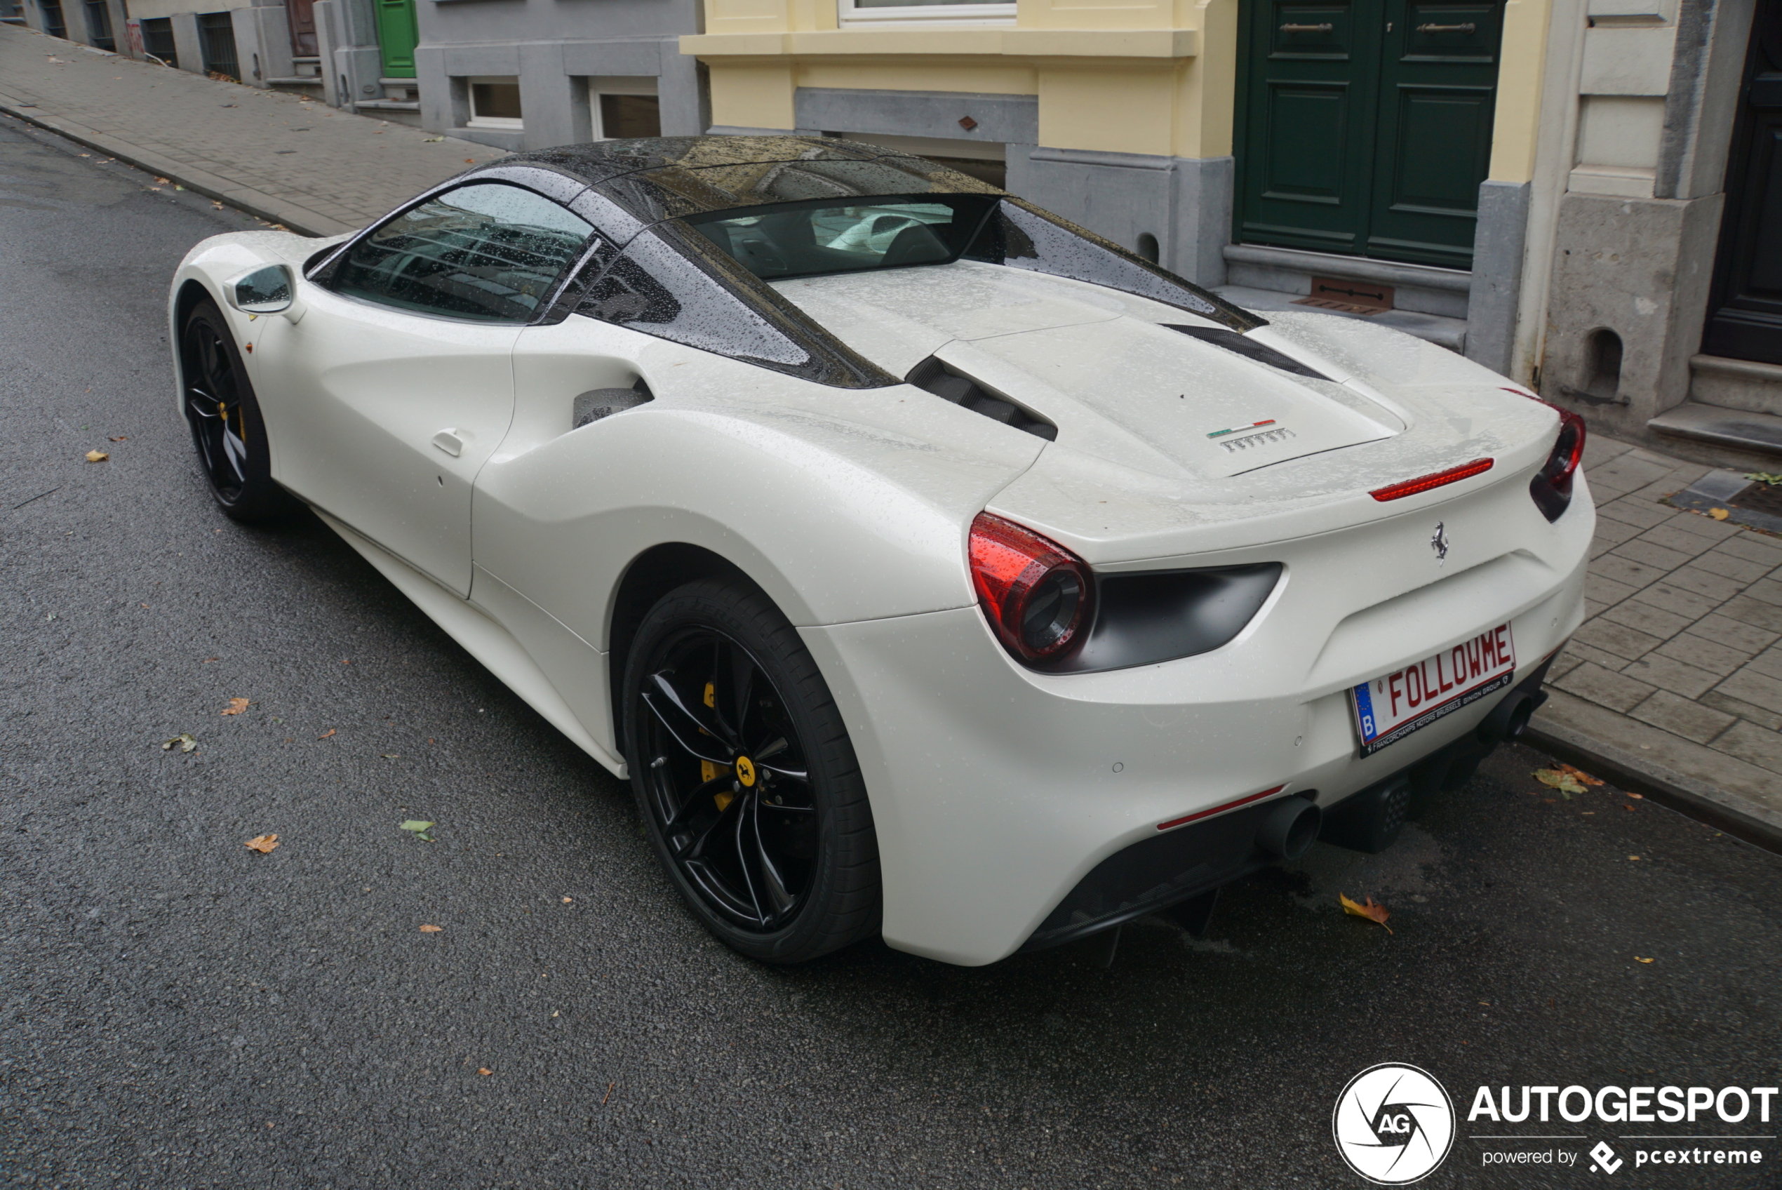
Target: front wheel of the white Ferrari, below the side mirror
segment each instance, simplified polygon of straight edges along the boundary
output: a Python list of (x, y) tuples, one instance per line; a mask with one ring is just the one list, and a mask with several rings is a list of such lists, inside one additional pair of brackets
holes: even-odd
[(260, 403), (228, 321), (208, 298), (180, 326), (180, 397), (198, 465), (226, 517), (267, 520), (299, 508), (273, 479)]

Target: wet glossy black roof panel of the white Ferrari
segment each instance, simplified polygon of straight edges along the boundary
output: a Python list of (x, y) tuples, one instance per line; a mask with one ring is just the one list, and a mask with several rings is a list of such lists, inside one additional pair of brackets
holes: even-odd
[(490, 162), (490, 167), (503, 166), (533, 166), (576, 178), (645, 223), (830, 196), (1003, 192), (921, 157), (838, 137), (595, 141)]

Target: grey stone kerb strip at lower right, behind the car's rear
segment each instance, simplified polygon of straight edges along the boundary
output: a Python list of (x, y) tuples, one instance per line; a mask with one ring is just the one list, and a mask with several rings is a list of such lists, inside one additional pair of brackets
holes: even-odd
[[(1524, 743), (1782, 855), (1782, 777), (1565, 691), (1549, 695)], [(1684, 773), (1682, 766), (1698, 771)]]

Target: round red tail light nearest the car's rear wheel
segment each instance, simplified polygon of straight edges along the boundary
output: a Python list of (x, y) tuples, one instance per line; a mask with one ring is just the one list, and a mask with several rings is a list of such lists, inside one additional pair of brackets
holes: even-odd
[(971, 584), (1003, 648), (1021, 661), (1067, 656), (1094, 622), (1083, 559), (1001, 517), (971, 522)]

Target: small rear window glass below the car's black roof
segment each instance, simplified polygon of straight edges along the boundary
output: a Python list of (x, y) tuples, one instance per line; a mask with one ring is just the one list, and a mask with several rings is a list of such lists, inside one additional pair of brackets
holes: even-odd
[(779, 203), (686, 219), (759, 278), (902, 269), (957, 260), (996, 205), (994, 194), (893, 194)]

